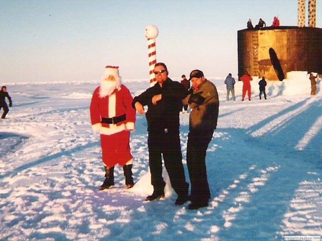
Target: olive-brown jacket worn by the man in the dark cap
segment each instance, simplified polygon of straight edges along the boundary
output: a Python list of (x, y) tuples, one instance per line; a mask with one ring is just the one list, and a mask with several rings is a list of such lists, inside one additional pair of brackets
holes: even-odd
[[(199, 85), (199, 89), (194, 90), (194, 94), (200, 93), (204, 97), (202, 104), (190, 103), (192, 109), (189, 116), (189, 130), (214, 130), (217, 127), (219, 113), (219, 98), (216, 86), (205, 80)], [(188, 104), (191, 94), (187, 95), (182, 101)]]

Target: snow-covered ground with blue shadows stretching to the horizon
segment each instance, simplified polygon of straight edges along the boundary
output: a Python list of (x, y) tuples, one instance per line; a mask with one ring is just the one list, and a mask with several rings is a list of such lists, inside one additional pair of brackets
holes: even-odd
[[(310, 96), (306, 73), (269, 83), (259, 100), (225, 102), (223, 80), (217, 130), (207, 152), (212, 198), (207, 208), (175, 206), (166, 172), (166, 197), (152, 193), (147, 123), (137, 115), (131, 134), (132, 189), (115, 168), (104, 180), (99, 135), (90, 126), (98, 83), (9, 84), (13, 107), (0, 121), (1, 240), (284, 240), (322, 236), (322, 94)], [(170, 73), (171, 77), (171, 73)], [(148, 81), (126, 81), (133, 96)], [(180, 115), (186, 178), (188, 114)]]

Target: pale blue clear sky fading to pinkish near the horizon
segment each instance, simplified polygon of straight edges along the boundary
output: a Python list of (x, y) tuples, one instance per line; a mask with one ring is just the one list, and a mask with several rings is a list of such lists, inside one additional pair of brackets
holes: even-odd
[[(206, 77), (237, 75), (237, 31), (249, 18), (270, 25), (276, 15), (280, 25), (297, 26), (297, 7), (297, 0), (0, 1), (0, 82), (99, 80), (106, 65), (120, 66), (123, 79), (148, 79), (150, 24), (169, 77), (195, 68)], [(321, 14), (317, 0), (319, 28)]]

